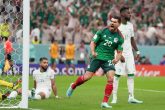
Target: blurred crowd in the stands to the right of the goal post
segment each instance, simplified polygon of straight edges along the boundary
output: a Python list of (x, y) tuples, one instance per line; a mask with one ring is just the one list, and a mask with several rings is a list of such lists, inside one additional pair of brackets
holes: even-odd
[(31, 0), (31, 41), (47, 44), (52, 39), (65, 44), (88, 44), (98, 29), (123, 5), (131, 7), (136, 42), (165, 44), (165, 2), (163, 0)]

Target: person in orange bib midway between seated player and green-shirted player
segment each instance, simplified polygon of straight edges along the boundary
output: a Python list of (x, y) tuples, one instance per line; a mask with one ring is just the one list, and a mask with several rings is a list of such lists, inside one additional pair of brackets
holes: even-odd
[(71, 39), (68, 40), (68, 44), (65, 47), (65, 57), (66, 57), (66, 74), (69, 75), (68, 68), (72, 67), (74, 72), (74, 57), (75, 57), (75, 45)]

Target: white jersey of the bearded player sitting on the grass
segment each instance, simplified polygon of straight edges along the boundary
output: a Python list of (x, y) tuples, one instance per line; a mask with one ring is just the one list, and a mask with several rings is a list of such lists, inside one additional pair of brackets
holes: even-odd
[(54, 79), (55, 72), (48, 68), (46, 72), (40, 72), (40, 68), (33, 72), (33, 78), (36, 80), (36, 88), (51, 89), (51, 79)]

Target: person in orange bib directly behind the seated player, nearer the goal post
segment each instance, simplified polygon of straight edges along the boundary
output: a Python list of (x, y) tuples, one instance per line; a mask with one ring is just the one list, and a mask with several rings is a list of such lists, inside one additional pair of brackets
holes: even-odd
[(55, 70), (59, 57), (59, 46), (57, 40), (52, 40), (52, 44), (49, 48), (49, 55), (51, 57), (51, 68)]

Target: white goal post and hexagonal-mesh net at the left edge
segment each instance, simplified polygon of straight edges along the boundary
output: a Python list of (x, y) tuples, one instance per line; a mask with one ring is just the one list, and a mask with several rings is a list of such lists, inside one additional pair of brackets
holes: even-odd
[(28, 108), (29, 7), (29, 0), (0, 0), (0, 108)]

